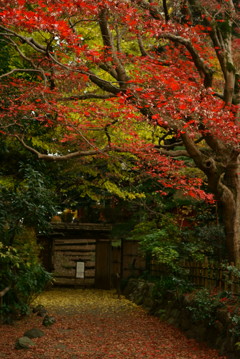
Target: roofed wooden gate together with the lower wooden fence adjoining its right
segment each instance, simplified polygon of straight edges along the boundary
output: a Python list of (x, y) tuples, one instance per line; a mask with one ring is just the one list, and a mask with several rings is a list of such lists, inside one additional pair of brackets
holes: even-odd
[(137, 241), (122, 240), (121, 246), (112, 246), (111, 225), (54, 223), (52, 227), (53, 233), (39, 242), (44, 247), (42, 263), (58, 285), (117, 288), (119, 278), (146, 270)]

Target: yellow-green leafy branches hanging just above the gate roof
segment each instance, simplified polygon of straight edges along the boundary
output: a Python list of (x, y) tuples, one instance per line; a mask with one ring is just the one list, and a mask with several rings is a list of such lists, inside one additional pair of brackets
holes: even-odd
[(113, 197), (126, 200), (126, 206), (127, 201), (141, 200), (145, 194), (136, 189), (134, 173), (124, 169), (132, 166), (131, 161), (125, 154), (73, 160), (58, 175), (59, 196), (68, 208), (79, 208), (82, 202), (102, 204)]

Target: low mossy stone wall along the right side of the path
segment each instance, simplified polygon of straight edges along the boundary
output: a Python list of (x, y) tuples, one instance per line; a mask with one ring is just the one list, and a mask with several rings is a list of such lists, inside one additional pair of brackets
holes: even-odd
[(206, 320), (193, 320), (188, 309), (191, 306), (191, 296), (176, 297), (172, 292), (156, 296), (155, 284), (142, 279), (129, 279), (123, 293), (150, 314), (178, 327), (188, 338), (207, 343), (229, 359), (240, 358), (240, 337), (231, 330), (232, 321), (227, 309), (218, 309), (216, 320), (209, 324)]

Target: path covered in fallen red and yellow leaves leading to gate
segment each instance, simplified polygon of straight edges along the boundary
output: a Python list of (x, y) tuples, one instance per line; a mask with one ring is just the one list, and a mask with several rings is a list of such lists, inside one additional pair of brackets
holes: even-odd
[[(0, 358), (6, 359), (223, 359), (187, 339), (112, 291), (54, 289), (37, 299), (57, 322), (49, 328), (32, 315), (0, 326)], [(32, 349), (14, 349), (17, 338), (37, 327), (45, 332)]]

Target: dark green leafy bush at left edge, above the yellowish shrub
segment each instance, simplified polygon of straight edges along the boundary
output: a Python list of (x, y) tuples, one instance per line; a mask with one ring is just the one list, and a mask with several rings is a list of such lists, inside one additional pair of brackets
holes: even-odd
[(13, 244), (16, 234), (24, 226), (46, 231), (49, 219), (56, 213), (55, 196), (43, 175), (30, 165), (22, 168), (21, 173), (22, 179), (13, 182), (12, 186), (0, 183), (0, 235), (7, 245)]

